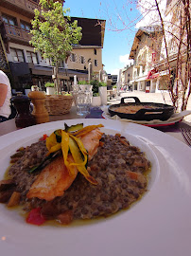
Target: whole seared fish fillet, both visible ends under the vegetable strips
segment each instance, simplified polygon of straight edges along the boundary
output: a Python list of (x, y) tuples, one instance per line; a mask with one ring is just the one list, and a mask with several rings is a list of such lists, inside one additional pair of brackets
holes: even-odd
[[(91, 160), (97, 152), (99, 140), (102, 134), (98, 128), (89, 132), (83, 137), (80, 137), (85, 149), (88, 151), (88, 159)], [(68, 155), (68, 161), (74, 162), (72, 155)], [(46, 201), (51, 201), (57, 196), (63, 195), (75, 180), (78, 169), (74, 166), (75, 175), (71, 176), (64, 164), (63, 156), (59, 156), (48, 164), (38, 175), (37, 179), (32, 184), (26, 197), (38, 197)]]

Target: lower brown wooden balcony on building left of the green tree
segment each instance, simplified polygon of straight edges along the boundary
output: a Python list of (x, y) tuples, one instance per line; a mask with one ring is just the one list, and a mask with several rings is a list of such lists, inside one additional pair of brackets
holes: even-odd
[[(6, 36), (13, 42), (26, 42), (28, 43), (31, 39), (31, 35), (25, 29), (21, 29), (20, 27), (10, 26), (5, 24)], [(11, 40), (12, 39), (12, 40)]]

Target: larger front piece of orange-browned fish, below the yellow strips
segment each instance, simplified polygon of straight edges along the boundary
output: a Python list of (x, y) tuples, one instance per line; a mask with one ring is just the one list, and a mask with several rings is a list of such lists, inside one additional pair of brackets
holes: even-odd
[[(72, 155), (68, 155), (68, 160), (74, 162)], [(38, 197), (46, 201), (53, 200), (56, 196), (61, 196), (75, 180), (78, 170), (74, 167), (75, 175), (71, 176), (64, 165), (62, 155), (48, 164), (41, 174), (32, 184), (26, 197)]]

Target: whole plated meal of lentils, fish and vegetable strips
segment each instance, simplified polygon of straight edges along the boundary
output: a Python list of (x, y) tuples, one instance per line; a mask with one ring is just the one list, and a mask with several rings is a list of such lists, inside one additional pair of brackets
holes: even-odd
[(19, 148), (0, 181), (0, 202), (22, 206), (34, 225), (68, 225), (128, 209), (147, 192), (150, 162), (126, 137), (101, 127), (65, 124)]

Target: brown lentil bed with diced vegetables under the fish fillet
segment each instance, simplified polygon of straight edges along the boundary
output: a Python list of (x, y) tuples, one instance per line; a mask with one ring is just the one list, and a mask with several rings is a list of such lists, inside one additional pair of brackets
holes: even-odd
[[(34, 215), (40, 216), (40, 220), (31, 224), (41, 225), (45, 220), (56, 219), (67, 225), (73, 220), (109, 216), (128, 209), (147, 192), (150, 162), (145, 153), (130, 145), (125, 137), (101, 133), (96, 154), (86, 163), (86, 169), (96, 184), (78, 172), (61, 196), (52, 200), (28, 198), (31, 186), (42, 170), (50, 165), (52, 158), (54, 161), (62, 159), (61, 150), (52, 158), (47, 157), (45, 138), (11, 155), (9, 179), (0, 182), (1, 203), (7, 203), (8, 207), (21, 205), (26, 212), (33, 211)], [(41, 168), (28, 172), (36, 166)]]

